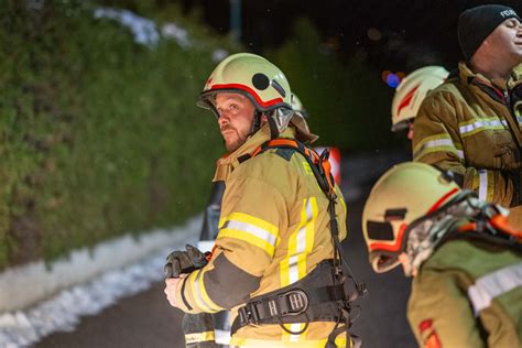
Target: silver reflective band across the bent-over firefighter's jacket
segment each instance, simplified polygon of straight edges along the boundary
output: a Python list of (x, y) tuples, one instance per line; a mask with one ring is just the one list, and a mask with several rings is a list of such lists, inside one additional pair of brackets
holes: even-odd
[(475, 316), (489, 307), (494, 297), (519, 286), (522, 286), (522, 262), (477, 279), (468, 289), (468, 297), (474, 306)]

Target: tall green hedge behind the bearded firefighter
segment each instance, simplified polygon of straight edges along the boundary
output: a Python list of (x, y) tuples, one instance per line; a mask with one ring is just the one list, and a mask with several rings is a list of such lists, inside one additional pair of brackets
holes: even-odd
[(3, 3), (0, 269), (199, 213), (224, 148), (195, 100), (225, 39), (191, 19), (196, 47), (148, 47), (83, 1)]

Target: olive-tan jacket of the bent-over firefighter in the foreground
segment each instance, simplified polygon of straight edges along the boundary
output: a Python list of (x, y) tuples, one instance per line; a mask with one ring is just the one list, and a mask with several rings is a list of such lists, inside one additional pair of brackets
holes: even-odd
[(447, 241), (413, 279), (407, 318), (421, 347), (522, 347), (522, 254)]

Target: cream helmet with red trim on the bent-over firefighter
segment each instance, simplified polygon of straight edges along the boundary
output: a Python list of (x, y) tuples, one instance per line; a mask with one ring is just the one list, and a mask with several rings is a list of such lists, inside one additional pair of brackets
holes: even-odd
[(443, 204), (449, 205), (460, 192), (448, 173), (424, 163), (406, 162), (384, 173), (362, 211), (362, 231), (373, 270), (381, 273), (396, 267), (415, 222), (443, 209)]

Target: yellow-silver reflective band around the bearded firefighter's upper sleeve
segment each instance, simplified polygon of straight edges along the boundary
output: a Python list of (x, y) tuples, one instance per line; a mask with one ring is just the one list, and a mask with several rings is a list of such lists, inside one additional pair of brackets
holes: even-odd
[(243, 213), (232, 213), (220, 221), (218, 239), (235, 238), (264, 250), (273, 257), (279, 242), (276, 226)]

